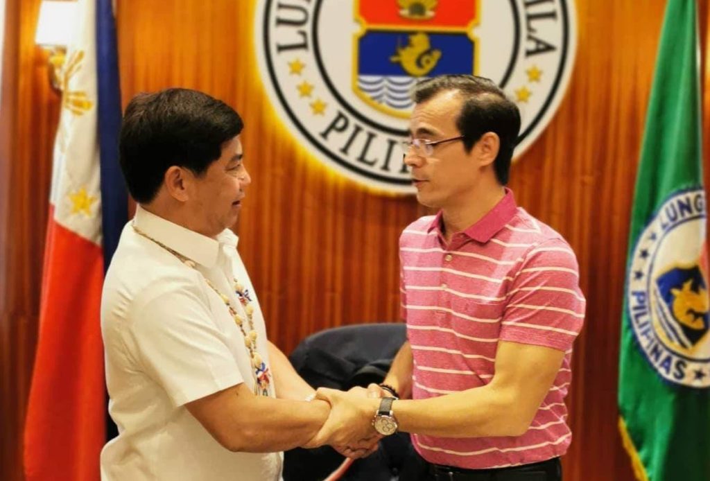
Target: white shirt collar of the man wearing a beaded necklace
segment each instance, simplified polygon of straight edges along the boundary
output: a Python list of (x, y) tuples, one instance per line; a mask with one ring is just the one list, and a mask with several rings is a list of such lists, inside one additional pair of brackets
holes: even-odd
[(146, 211), (140, 205), (136, 207), (136, 216), (133, 224), (147, 236), (158, 240), (185, 257), (194, 260), (204, 267), (212, 268), (217, 264), (221, 245), (236, 248), (239, 238), (229, 229), (224, 229), (217, 239), (203, 236), (195, 231), (190, 231), (176, 223), (156, 216)]

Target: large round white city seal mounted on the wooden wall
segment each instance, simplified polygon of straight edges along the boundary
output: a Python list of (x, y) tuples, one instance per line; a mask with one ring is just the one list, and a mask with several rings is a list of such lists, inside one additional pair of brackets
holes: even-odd
[(414, 192), (400, 140), (417, 80), (476, 74), (515, 101), (520, 155), (564, 96), (572, 0), (260, 0), (261, 78), (315, 157), (370, 187)]

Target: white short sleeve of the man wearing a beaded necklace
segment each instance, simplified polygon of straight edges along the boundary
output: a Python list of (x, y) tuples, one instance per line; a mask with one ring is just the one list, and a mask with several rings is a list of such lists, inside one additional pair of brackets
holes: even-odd
[(176, 406), (244, 382), (196, 280), (148, 289), (131, 319), (139, 362)]

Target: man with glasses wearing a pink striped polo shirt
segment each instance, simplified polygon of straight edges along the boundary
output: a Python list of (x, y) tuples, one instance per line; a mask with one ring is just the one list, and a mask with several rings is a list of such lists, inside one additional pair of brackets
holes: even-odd
[(435, 77), (414, 100), (405, 162), (417, 200), (438, 214), (400, 238), (408, 341), (370, 387), (383, 399), (320, 389), (333, 409), (322, 434), (356, 448), (373, 433), (368, 420), (381, 435), (412, 433), (409, 479), (561, 480), (584, 320), (577, 259), (505, 187), (520, 114), (501, 89)]

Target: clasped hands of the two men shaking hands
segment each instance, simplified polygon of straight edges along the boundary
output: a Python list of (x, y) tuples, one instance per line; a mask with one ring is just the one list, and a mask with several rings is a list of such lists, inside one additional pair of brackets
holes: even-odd
[(330, 404), (330, 414), (320, 431), (304, 448), (318, 448), (329, 444), (348, 458), (364, 458), (378, 448), (383, 434), (373, 427), (381, 398), (391, 394), (376, 384), (353, 387), (347, 392), (321, 387), (315, 399)]

